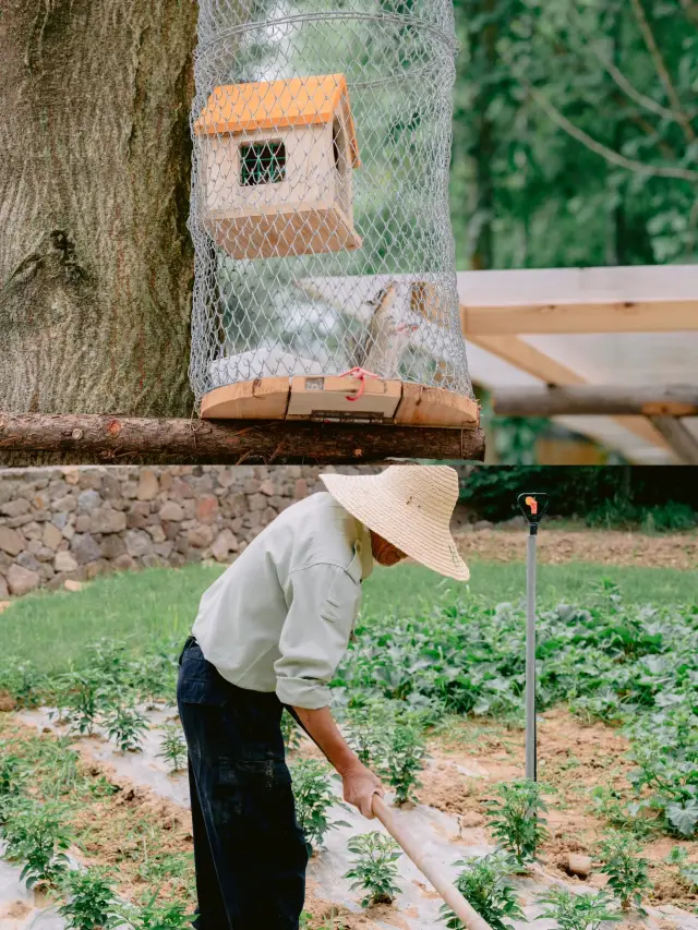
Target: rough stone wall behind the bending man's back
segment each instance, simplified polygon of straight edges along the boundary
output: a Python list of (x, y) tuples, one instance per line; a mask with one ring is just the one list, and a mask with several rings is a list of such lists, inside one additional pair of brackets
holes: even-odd
[(105, 571), (229, 563), (277, 514), (322, 488), (318, 474), (330, 470), (2, 469), (0, 599), (71, 587)]

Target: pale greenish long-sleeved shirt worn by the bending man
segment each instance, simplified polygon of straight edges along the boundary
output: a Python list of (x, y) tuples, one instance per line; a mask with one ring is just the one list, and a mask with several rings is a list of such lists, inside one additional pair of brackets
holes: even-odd
[(284, 510), (201, 599), (204, 656), (240, 688), (324, 708), (373, 569), (369, 530), (327, 492)]

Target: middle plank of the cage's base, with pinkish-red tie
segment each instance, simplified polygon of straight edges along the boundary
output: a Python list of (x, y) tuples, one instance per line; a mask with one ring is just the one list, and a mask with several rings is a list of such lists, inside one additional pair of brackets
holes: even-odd
[[(289, 420), (393, 420), (402, 396), (402, 382), (326, 375), (297, 375), (291, 379)], [(357, 398), (352, 400), (350, 398)]]

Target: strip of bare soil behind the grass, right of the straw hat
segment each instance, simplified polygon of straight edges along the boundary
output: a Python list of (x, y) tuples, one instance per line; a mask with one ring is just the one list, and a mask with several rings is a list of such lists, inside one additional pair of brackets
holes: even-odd
[[(522, 530), (456, 530), (460, 554), (482, 561), (522, 561)], [(551, 565), (587, 561), (597, 565), (698, 568), (698, 533), (647, 533), (617, 530), (557, 530), (545, 527), (538, 538), (538, 557)]]

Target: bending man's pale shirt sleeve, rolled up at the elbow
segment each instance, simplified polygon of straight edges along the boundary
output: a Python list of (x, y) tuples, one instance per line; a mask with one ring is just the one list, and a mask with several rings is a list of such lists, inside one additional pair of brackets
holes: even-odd
[(274, 664), (276, 693), (285, 704), (317, 710), (329, 704), (329, 680), (347, 650), (361, 585), (336, 565), (291, 572), (288, 615)]

